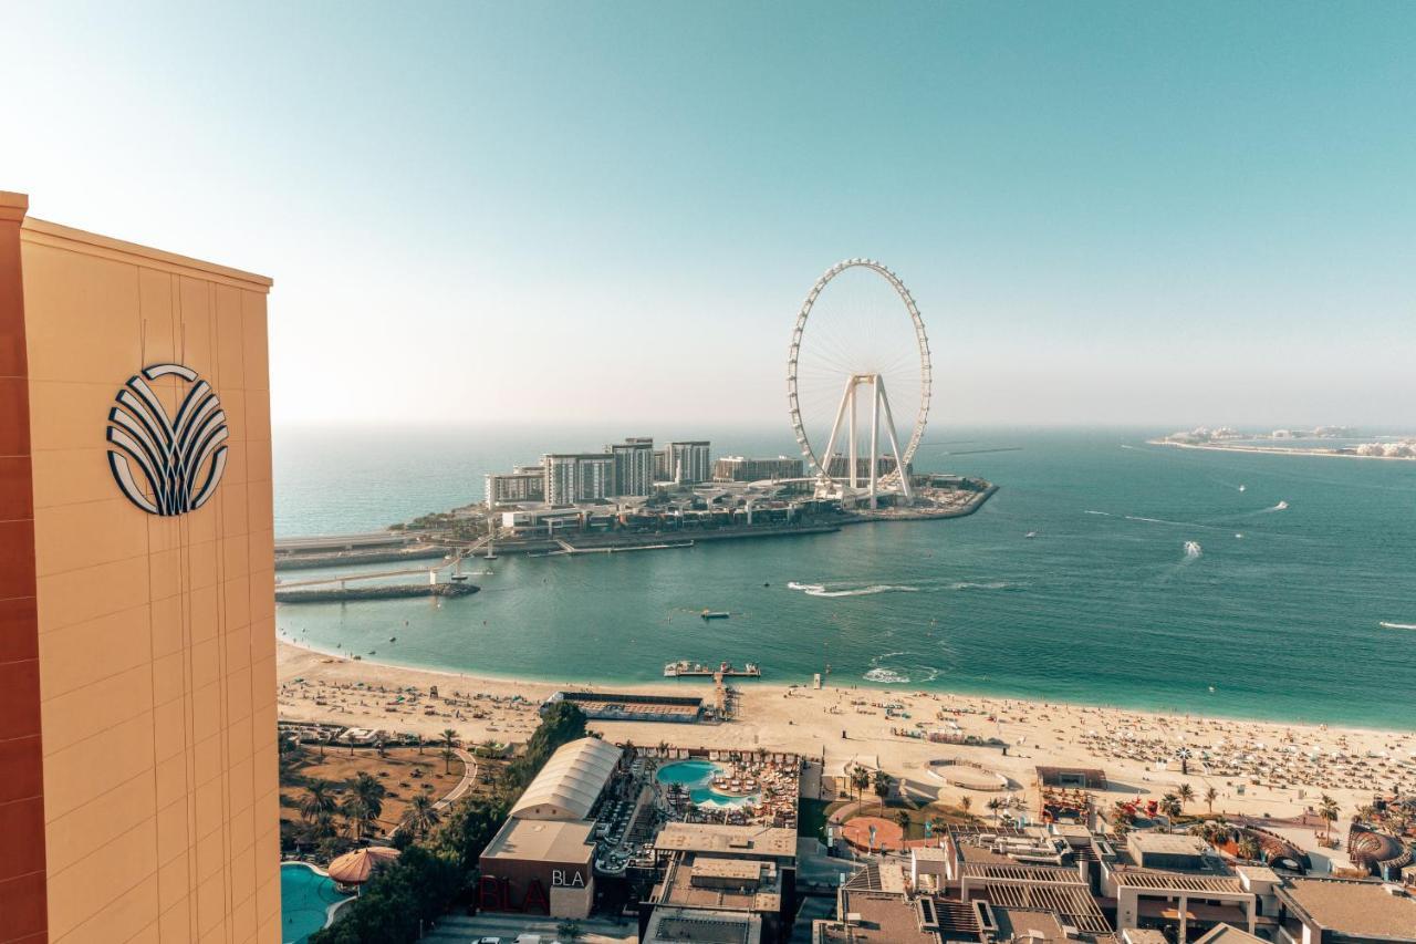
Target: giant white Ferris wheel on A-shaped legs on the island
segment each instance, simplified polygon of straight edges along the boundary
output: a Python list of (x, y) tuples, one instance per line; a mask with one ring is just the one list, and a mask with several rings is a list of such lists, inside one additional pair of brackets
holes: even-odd
[[(792, 332), (787, 404), (818, 496), (871, 507), (881, 493), (912, 498), (903, 471), (925, 435), (930, 370), (925, 322), (898, 275), (845, 259), (817, 279)], [(896, 417), (913, 420), (908, 439)]]

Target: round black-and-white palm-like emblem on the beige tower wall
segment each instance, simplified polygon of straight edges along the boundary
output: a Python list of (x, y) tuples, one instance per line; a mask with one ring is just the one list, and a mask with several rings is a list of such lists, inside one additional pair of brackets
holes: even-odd
[[(147, 381), (181, 377), (191, 384), (169, 417)], [(149, 515), (194, 512), (227, 471), (227, 414), (211, 384), (181, 364), (153, 364), (129, 378), (108, 411), (108, 468), (127, 500)]]

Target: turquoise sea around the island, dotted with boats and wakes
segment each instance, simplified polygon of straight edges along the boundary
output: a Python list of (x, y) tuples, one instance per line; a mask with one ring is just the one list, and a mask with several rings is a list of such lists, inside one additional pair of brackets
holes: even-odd
[[(786, 428), (691, 432), (711, 432), (715, 455), (796, 455)], [(823, 673), (862, 689), (1416, 727), (1416, 462), (1148, 445), (1158, 432), (932, 431), (916, 471), (1000, 486), (976, 515), (476, 560), (470, 597), (282, 605), (278, 632), (378, 662), (566, 683), (663, 682), (666, 662), (728, 659), (775, 683)], [(644, 432), (278, 429), (276, 534), (477, 502), (489, 471), (624, 434)], [(296, 573), (326, 571), (278, 577)]]

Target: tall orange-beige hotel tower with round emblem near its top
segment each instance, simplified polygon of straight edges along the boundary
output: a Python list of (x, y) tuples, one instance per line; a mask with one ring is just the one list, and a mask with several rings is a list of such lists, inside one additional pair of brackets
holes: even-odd
[(0, 941), (280, 940), (270, 281), (0, 191)]

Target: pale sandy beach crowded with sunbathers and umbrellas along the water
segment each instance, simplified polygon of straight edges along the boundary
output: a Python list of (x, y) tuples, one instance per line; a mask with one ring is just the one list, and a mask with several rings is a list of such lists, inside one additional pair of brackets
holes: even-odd
[[(521, 682), (353, 661), (278, 644), (280, 717), (319, 720), (392, 733), (439, 734), (455, 729), (464, 743), (521, 741), (534, 730), (537, 707), (556, 689), (702, 695), (711, 682), (592, 686)], [(429, 699), (430, 686), (439, 699)], [(398, 699), (416, 689), (409, 704)], [(1334, 797), (1342, 819), (1375, 792), (1416, 791), (1416, 734), (1331, 726), (1279, 724), (1157, 714), (1022, 699), (923, 693), (899, 689), (821, 690), (780, 683), (741, 686), (738, 719), (722, 724), (592, 721), (623, 743), (681, 747), (765, 747), (821, 757), (827, 774), (861, 763), (901, 777), (916, 795), (949, 802), (966, 794), (978, 809), (990, 794), (950, 787), (929, 772), (929, 761), (957, 758), (995, 771), (1035, 809), (1035, 765), (1099, 767), (1110, 780), (1107, 802), (1158, 798), (1188, 782), (1204, 812), (1214, 787), (1215, 812), (1289, 818)], [(445, 699), (452, 697), (453, 704)], [(896, 717), (885, 706), (898, 704)], [(901, 717), (899, 712), (909, 717)], [(916, 724), (920, 727), (916, 729)], [(944, 731), (1001, 738), (1010, 747), (966, 747), (899, 736), (898, 730)], [(843, 737), (844, 733), (844, 737)], [(1178, 753), (1189, 751), (1188, 774)]]

